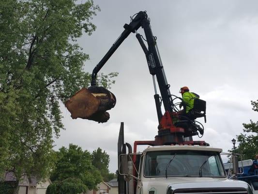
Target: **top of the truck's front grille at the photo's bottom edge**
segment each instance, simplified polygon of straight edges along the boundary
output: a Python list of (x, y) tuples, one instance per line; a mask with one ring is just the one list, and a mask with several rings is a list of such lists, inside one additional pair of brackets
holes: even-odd
[(244, 188), (187, 188), (170, 189), (169, 194), (247, 194)]

